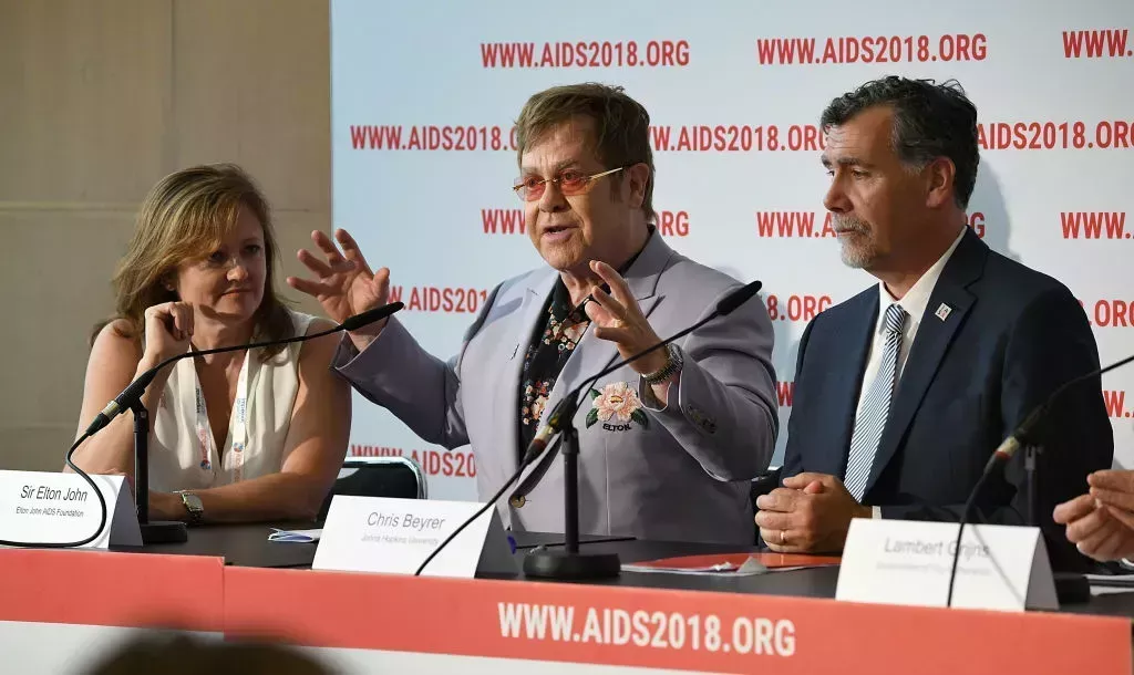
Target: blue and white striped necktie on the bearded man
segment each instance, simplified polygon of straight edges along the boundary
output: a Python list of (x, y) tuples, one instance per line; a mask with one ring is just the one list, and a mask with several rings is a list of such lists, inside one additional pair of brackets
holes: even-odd
[(886, 309), (882, 327), (886, 331), (886, 345), (882, 351), (882, 365), (878, 368), (874, 382), (866, 391), (862, 412), (855, 419), (854, 435), (850, 437), (850, 455), (847, 458), (846, 478), (843, 485), (857, 502), (862, 502), (870, 478), (871, 467), (878, 444), (882, 441), (886, 420), (890, 415), (890, 399), (897, 382), (898, 350), (902, 348), (902, 326), (906, 323), (906, 310), (895, 302)]

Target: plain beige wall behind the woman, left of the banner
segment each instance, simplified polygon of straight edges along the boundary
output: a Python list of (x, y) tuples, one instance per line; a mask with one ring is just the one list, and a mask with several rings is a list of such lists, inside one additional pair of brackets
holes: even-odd
[(329, 33), (327, 0), (0, 0), (0, 468), (62, 465), (88, 331), (162, 176), (244, 165), (298, 272), (330, 227)]

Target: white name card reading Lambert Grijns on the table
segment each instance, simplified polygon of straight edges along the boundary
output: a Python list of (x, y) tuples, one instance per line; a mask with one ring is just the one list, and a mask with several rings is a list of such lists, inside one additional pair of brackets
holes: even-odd
[[(852, 520), (835, 598), (945, 607), (958, 527), (948, 522)], [(953, 606), (1058, 609), (1040, 529), (966, 524)]]

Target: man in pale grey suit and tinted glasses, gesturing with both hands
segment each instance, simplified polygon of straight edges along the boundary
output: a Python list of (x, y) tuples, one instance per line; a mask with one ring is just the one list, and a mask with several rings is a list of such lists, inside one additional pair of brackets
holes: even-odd
[[(497, 285), (449, 361), (397, 318), (342, 340), (333, 367), (363, 395), (428, 442), (472, 444), (482, 498), (515, 473), (567, 392), (741, 287), (653, 227), (649, 126), (619, 87), (532, 96), (517, 121), (514, 190), (548, 266)], [(316, 279), (289, 277), (293, 288), (339, 322), (387, 301), (389, 271), (373, 273), (347, 232), (336, 232), (341, 251), (322, 232), (312, 238), (325, 258), (299, 251)], [(751, 545), (750, 482), (779, 426), (771, 351), (768, 314), (748, 301), (599, 381), (573, 420), (579, 532)], [(525, 499), (499, 505), (505, 524), (561, 532), (561, 463), (536, 462), (521, 485)]]

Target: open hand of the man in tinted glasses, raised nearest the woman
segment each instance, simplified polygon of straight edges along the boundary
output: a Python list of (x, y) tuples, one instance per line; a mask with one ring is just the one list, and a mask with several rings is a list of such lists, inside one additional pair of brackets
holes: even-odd
[[(358, 245), (346, 230), (335, 231), (335, 239), (342, 247), (341, 251), (324, 232), (315, 230), (311, 233), (311, 239), (323, 251), (325, 259), (301, 249), (299, 262), (315, 275), (315, 279), (288, 276), (289, 287), (319, 300), (327, 316), (337, 323), (387, 304), (390, 271), (382, 267), (376, 273), (371, 272), (366, 258), (358, 250)], [(350, 340), (355, 347), (363, 350), (378, 338), (384, 326), (386, 319), (375, 322), (352, 332)]]

